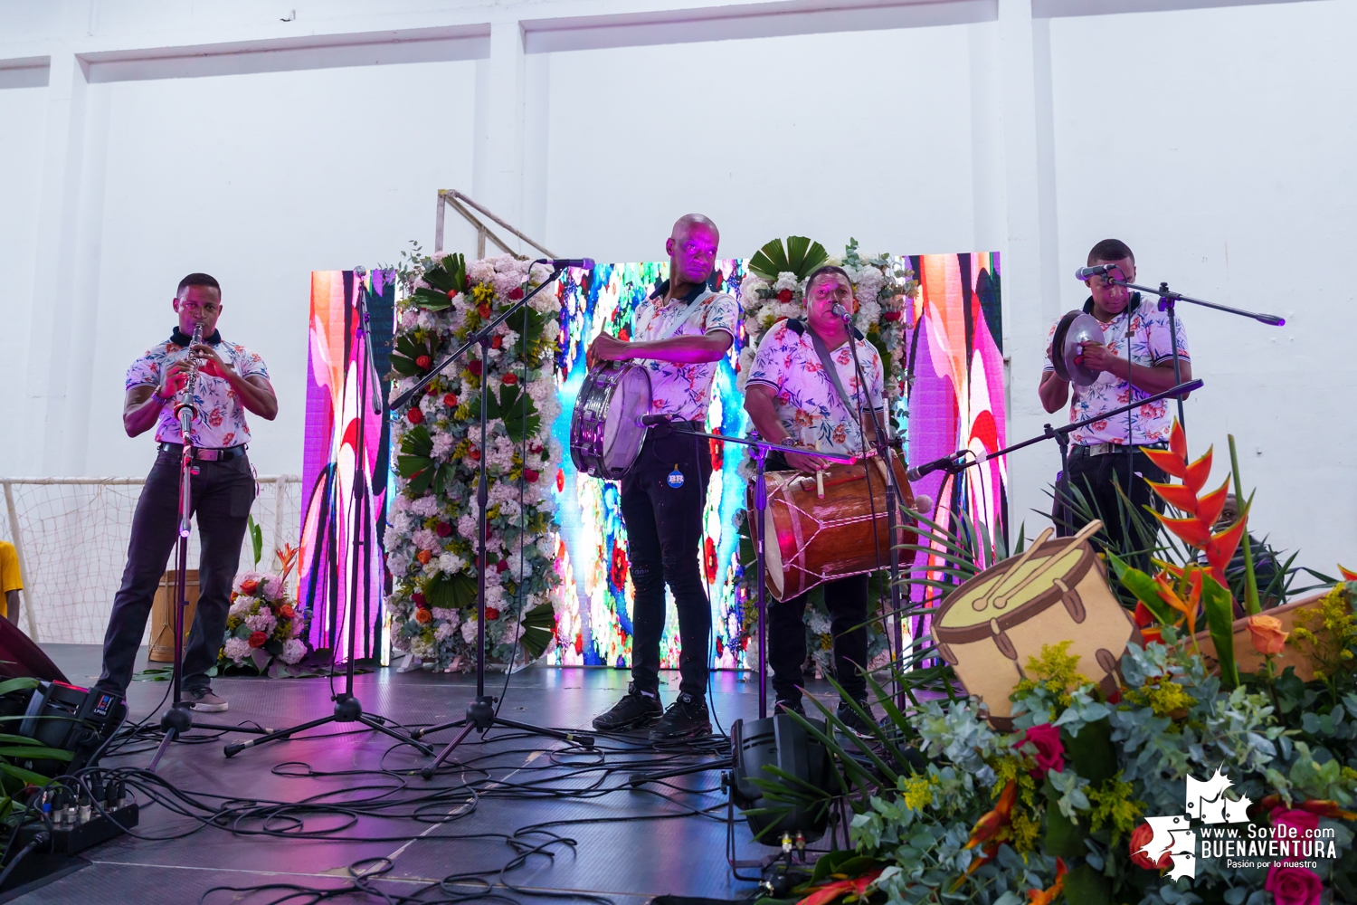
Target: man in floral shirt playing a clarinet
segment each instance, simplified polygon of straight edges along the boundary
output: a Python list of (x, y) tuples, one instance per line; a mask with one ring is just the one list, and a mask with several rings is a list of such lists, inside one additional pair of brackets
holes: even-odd
[[(122, 695), (147, 630), (156, 585), (179, 536), (179, 464), (183, 437), (175, 402), (187, 383), (189, 357), (198, 358), (193, 393), (193, 509), (198, 518), (198, 608), (183, 657), (185, 699), (194, 710), (224, 711), (227, 701), (212, 692), (208, 669), (217, 662), (231, 606), (231, 582), (240, 562), (240, 544), (254, 503), (255, 480), (246, 457), (250, 427), (246, 412), (273, 421), (278, 400), (263, 358), (221, 339), (221, 286), (202, 273), (179, 281), (172, 303), (179, 323), (128, 369), (122, 425), (129, 437), (156, 429), (156, 464), (137, 499), (122, 586), (113, 598), (103, 636), (103, 674), (96, 685)], [(202, 342), (193, 345), (194, 327)]]

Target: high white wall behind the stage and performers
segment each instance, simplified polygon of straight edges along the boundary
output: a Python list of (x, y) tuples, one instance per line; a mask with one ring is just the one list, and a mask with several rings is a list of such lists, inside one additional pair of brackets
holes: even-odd
[[(1191, 444), (1216, 444), (1223, 476), (1234, 431), (1255, 525), (1316, 567), (1353, 559), (1350, 0), (1117, 15), (1072, 0), (343, 0), (280, 23), (299, 1), (0, 1), (0, 423), (23, 430), (0, 472), (145, 469), (149, 440), (121, 431), (122, 373), (198, 269), (225, 286), (224, 335), (258, 349), (280, 391), (280, 421), (254, 425), (258, 467), (299, 471), (309, 271), (430, 247), (434, 191), (463, 189), (558, 254), (598, 259), (654, 258), (688, 210), (718, 221), (729, 255), (797, 232), (832, 250), (997, 250), (1014, 440), (1063, 418), (1035, 399), (1045, 332), (1082, 301), (1069, 274), (1087, 248), (1122, 237), (1144, 282), (1288, 317), (1183, 311), (1206, 380)], [(1034, 1), (1058, 18), (1034, 19)], [(31, 83), (7, 58), (42, 54), (52, 87), (3, 87)], [(408, 62), (433, 58), (448, 61)], [(66, 64), (92, 83), (72, 85)], [(182, 77), (209, 71), (240, 75)], [(50, 331), (47, 350), (43, 305), (94, 328), (66, 345)], [(1010, 467), (1015, 520), (1037, 524), (1054, 449)]]

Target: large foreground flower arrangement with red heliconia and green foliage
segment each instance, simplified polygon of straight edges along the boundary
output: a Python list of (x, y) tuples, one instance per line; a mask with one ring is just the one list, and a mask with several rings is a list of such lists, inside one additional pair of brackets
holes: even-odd
[[(1209, 461), (1189, 461), (1175, 430), (1160, 464), (1183, 483), (1156, 488), (1177, 510), (1164, 524), (1205, 566), (1158, 562), (1151, 577), (1109, 554), (1148, 639), (1128, 646), (1114, 693), (1057, 642), (1025, 663), (1010, 733), (957, 699), (946, 674), (931, 699), (897, 676), (908, 714), (874, 684), (889, 718), (862, 744), (845, 746), (828, 707), (840, 731), (805, 722), (835, 754), (837, 787), (856, 790), (855, 849), (817, 868), (794, 901), (1357, 902), (1357, 575), (1343, 570), (1346, 582), (1297, 604), (1289, 631), (1259, 612), (1235, 621), (1216, 570), (1243, 528), (1212, 531), (1223, 490), (1200, 493)], [(1198, 611), (1215, 668), (1198, 653)], [(1239, 670), (1234, 638), (1247, 638), (1255, 672)], [(1284, 655), (1303, 658), (1314, 678), (1278, 669)], [(1156, 848), (1149, 818), (1193, 815), (1202, 798), (1224, 824), (1182, 824), (1196, 829), (1194, 860)]]

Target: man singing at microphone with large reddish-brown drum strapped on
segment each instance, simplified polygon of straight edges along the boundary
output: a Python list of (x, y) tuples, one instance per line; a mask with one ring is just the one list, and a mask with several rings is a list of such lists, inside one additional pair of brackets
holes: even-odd
[[(828, 465), (814, 452), (863, 455), (864, 437), (873, 436), (873, 412), (885, 417), (881, 355), (866, 339), (849, 338), (843, 319), (833, 313), (836, 304), (856, 309), (852, 282), (840, 267), (821, 267), (806, 282), (805, 323), (782, 320), (759, 343), (745, 389), (745, 411), (764, 440), (807, 448), (786, 457), (771, 453), (769, 471), (795, 468), (814, 474)], [(849, 342), (856, 343), (866, 387), (859, 384)], [(862, 628), (867, 621), (867, 578), (849, 575), (826, 582), (824, 589), (835, 673), (844, 692), (870, 714), (867, 680), (862, 673), (867, 665), (867, 631)], [(798, 714), (805, 714), (801, 666), (806, 661), (802, 615), (807, 596), (773, 602), (768, 609), (768, 662), (776, 707)], [(870, 731), (847, 703), (839, 704), (839, 716), (858, 731)]]

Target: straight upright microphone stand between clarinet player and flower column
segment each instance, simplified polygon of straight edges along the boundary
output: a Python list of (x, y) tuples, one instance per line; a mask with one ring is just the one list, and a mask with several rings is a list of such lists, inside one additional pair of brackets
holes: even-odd
[[(356, 273), (361, 277), (361, 271), (356, 269)], [(364, 408), (368, 407), (368, 399), (370, 387), (368, 384), (369, 374), (376, 374), (376, 366), (372, 361), (372, 345), (368, 341), (369, 326), (368, 326), (368, 292), (364, 288), (358, 288), (358, 324), (354, 331), (354, 342), (362, 343), (362, 373), (358, 376), (358, 399), (354, 406), (354, 411), (358, 414), (358, 425), (354, 436), (354, 456), (353, 456), (353, 516), (349, 526), (349, 536), (353, 545), (349, 551), (350, 569), (349, 569), (349, 644), (347, 654), (349, 662), (345, 663), (345, 684), (343, 691), (335, 695), (335, 712), (328, 716), (322, 716), (320, 719), (312, 719), (309, 722), (301, 723), (300, 726), (292, 726), (290, 729), (280, 729), (277, 731), (270, 731), (262, 738), (252, 738), (248, 742), (240, 742), (237, 745), (227, 745), (224, 752), (227, 757), (233, 757), (239, 752), (247, 748), (255, 748), (266, 742), (285, 739), (296, 733), (305, 731), (308, 729), (315, 729), (316, 726), (324, 726), (326, 723), (362, 723), (368, 729), (375, 729), (379, 733), (384, 733), (391, 738), (396, 739), (403, 745), (414, 745), (422, 754), (432, 754), (433, 749), (427, 745), (422, 745), (418, 741), (413, 741), (408, 735), (399, 733), (387, 725), (384, 716), (373, 716), (372, 714), (365, 714), (362, 711), (362, 701), (353, 693), (353, 670), (354, 670), (354, 644), (358, 635), (358, 596), (360, 586), (362, 588), (362, 604), (364, 612), (369, 612), (372, 602), (372, 522), (369, 520), (372, 505), (372, 498), (368, 493), (368, 446), (364, 438), (364, 425), (368, 421)], [(379, 391), (380, 393), (380, 391)], [(380, 414), (380, 407), (375, 406), (376, 412)], [(338, 461), (338, 449), (335, 450), (335, 461)], [(334, 522), (330, 522), (331, 525)], [(337, 540), (335, 535), (330, 535), (326, 541), (334, 544)], [(361, 583), (360, 583), (361, 582)]]

